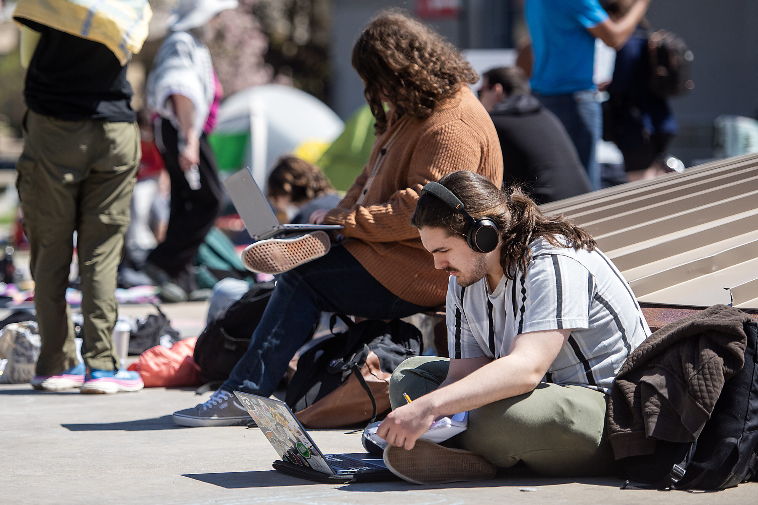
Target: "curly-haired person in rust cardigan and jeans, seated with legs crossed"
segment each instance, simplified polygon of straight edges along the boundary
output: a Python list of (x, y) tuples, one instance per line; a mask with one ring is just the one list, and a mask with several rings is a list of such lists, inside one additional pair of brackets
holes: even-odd
[(232, 391), (270, 395), (321, 311), (390, 320), (445, 303), (448, 275), (434, 268), (410, 217), (424, 185), (446, 173), (471, 170), (500, 187), (497, 132), (466, 86), (478, 75), (437, 33), (396, 12), (368, 23), (352, 66), (365, 84), (377, 139), (340, 204), (311, 216), (312, 223), (343, 225), (346, 240), (279, 277), (230, 378), (204, 404), (175, 412), (177, 424), (249, 422)]

